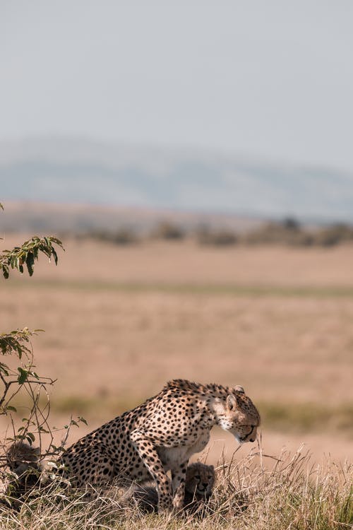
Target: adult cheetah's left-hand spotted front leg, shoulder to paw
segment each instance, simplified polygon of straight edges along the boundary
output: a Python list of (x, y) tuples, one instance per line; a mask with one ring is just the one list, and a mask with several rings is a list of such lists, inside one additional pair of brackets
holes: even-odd
[(164, 471), (155, 444), (140, 430), (133, 430), (130, 439), (143, 464), (155, 479), (158, 493), (158, 512), (172, 510), (172, 484)]

